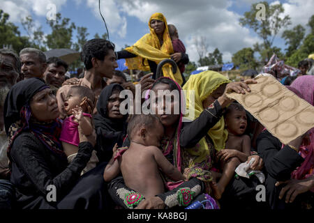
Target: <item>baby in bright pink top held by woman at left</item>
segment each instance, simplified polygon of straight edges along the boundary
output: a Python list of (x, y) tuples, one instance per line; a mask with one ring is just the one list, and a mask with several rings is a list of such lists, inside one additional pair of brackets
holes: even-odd
[[(80, 144), (78, 127), (82, 128), (85, 135), (90, 135), (93, 132), (91, 113), (95, 107), (94, 102), (95, 94), (85, 86), (71, 86), (68, 91), (64, 102), (67, 118), (63, 121), (59, 139), (62, 142), (63, 151), (66, 153), (69, 163), (77, 155), (78, 145)], [(96, 151), (93, 151), (91, 159), (83, 169), (82, 174), (96, 167), (97, 162)]]

